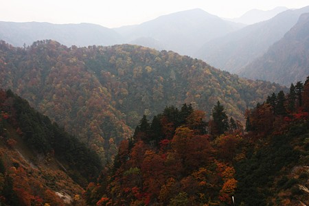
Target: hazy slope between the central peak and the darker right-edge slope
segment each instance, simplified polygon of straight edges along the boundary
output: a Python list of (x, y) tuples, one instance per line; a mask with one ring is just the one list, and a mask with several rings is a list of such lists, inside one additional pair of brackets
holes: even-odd
[(297, 23), (299, 16), (306, 12), (309, 12), (309, 6), (287, 10), (268, 21), (249, 25), (209, 41), (196, 56), (214, 67), (238, 73), (242, 67), (262, 56), (268, 47), (279, 41)]

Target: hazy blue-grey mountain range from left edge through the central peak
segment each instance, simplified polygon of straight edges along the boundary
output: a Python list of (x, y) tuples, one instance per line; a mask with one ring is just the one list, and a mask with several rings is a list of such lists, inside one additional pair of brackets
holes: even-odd
[(176, 12), (140, 25), (109, 29), (90, 23), (57, 25), (52, 23), (0, 22), (0, 39), (14, 46), (53, 39), (63, 45), (115, 45), (134, 43), (192, 56), (211, 40), (244, 25), (225, 21), (201, 9)]

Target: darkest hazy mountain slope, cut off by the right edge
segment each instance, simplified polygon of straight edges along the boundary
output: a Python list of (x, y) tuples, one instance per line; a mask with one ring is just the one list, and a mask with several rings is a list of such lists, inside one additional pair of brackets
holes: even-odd
[(309, 13), (260, 58), (240, 70), (240, 76), (288, 86), (309, 75)]

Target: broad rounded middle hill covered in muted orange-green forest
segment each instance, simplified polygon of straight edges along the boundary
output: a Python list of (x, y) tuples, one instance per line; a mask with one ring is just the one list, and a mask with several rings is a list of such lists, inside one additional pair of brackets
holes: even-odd
[(122, 139), (143, 115), (165, 106), (192, 104), (210, 117), (220, 101), (244, 122), (244, 110), (262, 102), (278, 84), (238, 78), (174, 52), (136, 45), (66, 47), (37, 41), (28, 47), (0, 43), (0, 87), (34, 108), (111, 162)]

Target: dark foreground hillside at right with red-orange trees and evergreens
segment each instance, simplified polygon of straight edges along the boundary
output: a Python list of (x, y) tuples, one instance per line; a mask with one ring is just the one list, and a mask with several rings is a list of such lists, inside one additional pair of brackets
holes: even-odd
[(142, 117), (89, 205), (308, 205), (309, 77), (245, 113), (217, 102), (211, 119), (183, 104)]

